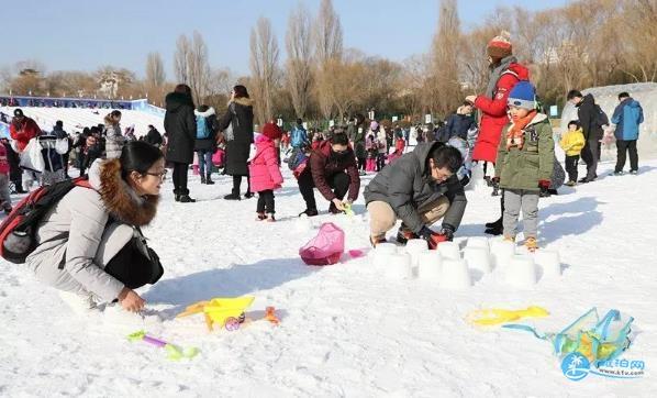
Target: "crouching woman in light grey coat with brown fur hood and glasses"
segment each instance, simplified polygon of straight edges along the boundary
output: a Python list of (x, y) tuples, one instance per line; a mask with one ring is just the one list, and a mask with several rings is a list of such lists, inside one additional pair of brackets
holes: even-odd
[(91, 189), (76, 187), (38, 226), (38, 246), (26, 259), (37, 279), (62, 290), (74, 310), (119, 300), (129, 311), (145, 301), (133, 290), (163, 274), (140, 226), (155, 217), (162, 152), (144, 142), (126, 144), (118, 159), (98, 161), (89, 170)]

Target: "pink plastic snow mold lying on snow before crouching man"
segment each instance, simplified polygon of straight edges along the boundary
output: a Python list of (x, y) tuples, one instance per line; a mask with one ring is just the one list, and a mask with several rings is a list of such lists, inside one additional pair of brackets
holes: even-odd
[(299, 248), (299, 255), (308, 265), (332, 265), (339, 261), (344, 251), (344, 231), (332, 222), (325, 222), (318, 235)]

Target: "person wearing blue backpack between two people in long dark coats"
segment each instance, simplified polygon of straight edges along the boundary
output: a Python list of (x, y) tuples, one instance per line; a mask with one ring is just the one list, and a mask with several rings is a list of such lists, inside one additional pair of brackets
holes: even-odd
[[(200, 106), (193, 111), (197, 118), (197, 141), (194, 151), (199, 156), (201, 184), (213, 185), (212, 155), (216, 151), (216, 114), (214, 108)], [(203, 123), (203, 124), (201, 124)]]

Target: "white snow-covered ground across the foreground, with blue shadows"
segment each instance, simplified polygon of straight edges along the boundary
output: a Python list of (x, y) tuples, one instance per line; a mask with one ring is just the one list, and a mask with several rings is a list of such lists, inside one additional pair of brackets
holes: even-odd
[[(599, 175), (612, 165), (604, 163)], [(583, 166), (580, 173), (583, 172)], [(371, 179), (366, 177), (365, 186)], [(308, 267), (298, 248), (303, 201), (289, 175), (277, 194), (279, 221), (258, 223), (256, 200), (229, 202), (227, 177), (190, 183), (193, 204), (174, 202), (167, 181), (158, 215), (145, 234), (166, 274), (141, 290), (165, 318), (152, 334), (200, 356), (170, 362), (151, 345), (130, 343), (103, 316), (76, 318), (57, 294), (18, 265), (0, 262), (0, 396), (86, 397), (654, 397), (657, 382), (657, 161), (638, 176), (603, 177), (541, 200), (539, 243), (566, 265), (558, 281), (520, 290), (498, 272), (466, 291), (425, 280), (390, 280), (366, 258)], [(499, 215), (490, 189), (468, 191), (458, 242), (482, 235)], [(319, 195), (318, 195), (319, 197)], [(324, 212), (367, 247), (367, 222)], [(360, 198), (355, 210), (365, 212)], [(280, 327), (254, 322), (237, 332), (205, 330), (201, 317), (174, 319), (185, 306), (212, 297), (254, 295), (261, 316), (275, 306)], [(528, 333), (470, 327), (464, 317), (488, 307), (545, 307), (534, 322), (556, 332), (593, 306), (633, 316), (636, 338), (624, 357), (646, 376), (567, 379), (548, 343)]]

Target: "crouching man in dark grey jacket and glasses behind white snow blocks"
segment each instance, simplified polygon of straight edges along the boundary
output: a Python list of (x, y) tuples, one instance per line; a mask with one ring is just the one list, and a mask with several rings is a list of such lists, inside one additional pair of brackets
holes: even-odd
[[(426, 240), (430, 248), (450, 241), (460, 225), (467, 199), (456, 170), (463, 157), (458, 150), (439, 142), (420, 143), (381, 170), (365, 188), (370, 217), (370, 242), (386, 242), (386, 232), (402, 220), (397, 240)], [(431, 226), (443, 219), (439, 233)]]

